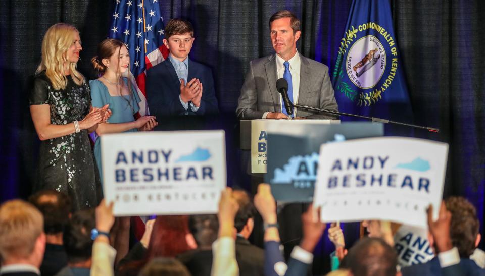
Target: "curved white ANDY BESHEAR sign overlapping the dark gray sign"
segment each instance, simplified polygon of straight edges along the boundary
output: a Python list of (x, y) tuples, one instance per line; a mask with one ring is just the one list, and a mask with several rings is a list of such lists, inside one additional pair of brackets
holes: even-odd
[(443, 195), (448, 144), (381, 137), (324, 144), (314, 205), (325, 222), (391, 220), (427, 229)]

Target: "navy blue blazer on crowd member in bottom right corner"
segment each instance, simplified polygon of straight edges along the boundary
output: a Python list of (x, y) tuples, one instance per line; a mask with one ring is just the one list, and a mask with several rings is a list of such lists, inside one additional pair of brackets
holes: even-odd
[(401, 269), (403, 276), (411, 275), (485, 275), (485, 270), (481, 269), (473, 260), (461, 259), (457, 265), (441, 268), (438, 257), (434, 257), (432, 260), (426, 263), (415, 264), (404, 267)]

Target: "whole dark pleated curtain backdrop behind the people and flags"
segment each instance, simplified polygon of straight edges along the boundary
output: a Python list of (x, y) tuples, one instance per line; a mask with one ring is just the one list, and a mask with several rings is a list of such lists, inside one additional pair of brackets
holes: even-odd
[[(213, 70), (221, 119), (210, 128), (227, 136), (228, 183), (248, 187), (240, 160), (235, 107), (249, 61), (273, 52), (268, 19), (289, 9), (302, 20), (304, 56), (334, 67), (351, 0), (159, 0), (163, 19), (195, 26), (190, 56)], [(107, 37), (114, 0), (2, 1), (0, 9), (0, 201), (27, 197), (35, 181), (38, 138), (28, 109), (31, 75), (47, 28), (74, 24), (83, 41), (79, 68), (94, 78), (89, 59)], [(416, 137), (450, 144), (445, 196), (466, 196), (483, 220), (485, 185), (485, 28), (481, 0), (391, 1), (394, 32), (412, 103), (414, 123), (440, 133)], [(392, 118), (391, 118), (392, 119)], [(483, 224), (480, 227), (482, 236)], [(480, 245), (483, 248), (483, 243)]]

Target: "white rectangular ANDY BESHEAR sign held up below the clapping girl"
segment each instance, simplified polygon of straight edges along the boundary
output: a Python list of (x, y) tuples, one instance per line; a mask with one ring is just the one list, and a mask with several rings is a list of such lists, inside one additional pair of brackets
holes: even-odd
[(103, 190), (117, 216), (216, 213), (226, 186), (224, 131), (101, 137)]

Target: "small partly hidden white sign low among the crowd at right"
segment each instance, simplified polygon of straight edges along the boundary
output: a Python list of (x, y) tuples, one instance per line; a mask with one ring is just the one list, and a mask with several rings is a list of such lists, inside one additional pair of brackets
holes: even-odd
[(403, 225), (394, 235), (394, 248), (401, 267), (426, 263), (434, 258), (434, 251), (428, 241), (428, 231)]

